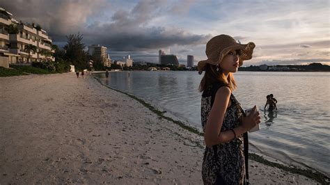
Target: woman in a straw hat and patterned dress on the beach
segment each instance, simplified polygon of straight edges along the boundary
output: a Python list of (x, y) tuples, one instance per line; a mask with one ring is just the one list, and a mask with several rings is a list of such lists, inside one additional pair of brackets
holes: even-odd
[(205, 71), (199, 86), (203, 92), (201, 118), (206, 144), (204, 184), (244, 182), (242, 134), (260, 123), (260, 113), (255, 106), (249, 116), (243, 116), (232, 94), (237, 87), (233, 73), (244, 60), (252, 58), (254, 47), (253, 42), (241, 45), (229, 35), (217, 35), (207, 42), (207, 60), (198, 63), (198, 73)]

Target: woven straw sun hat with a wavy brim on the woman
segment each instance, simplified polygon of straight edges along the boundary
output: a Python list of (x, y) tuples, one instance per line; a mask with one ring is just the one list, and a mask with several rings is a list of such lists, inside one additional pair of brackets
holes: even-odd
[(256, 45), (253, 42), (249, 42), (247, 45), (241, 45), (229, 35), (217, 35), (207, 42), (205, 50), (207, 60), (198, 62), (198, 73), (202, 74), (207, 63), (218, 65), (229, 51), (236, 49), (241, 50), (241, 54), (239, 55), (239, 66), (241, 66), (243, 65), (243, 61), (252, 58), (254, 47)]

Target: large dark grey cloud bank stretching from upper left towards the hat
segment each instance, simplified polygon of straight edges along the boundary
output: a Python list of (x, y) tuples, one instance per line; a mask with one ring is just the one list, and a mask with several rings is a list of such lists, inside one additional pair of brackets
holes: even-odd
[[(167, 13), (184, 13), (189, 3), (191, 1), (166, 5), (165, 1), (140, 1), (128, 10), (111, 7), (105, 0), (10, 0), (1, 6), (13, 13), (15, 19), (40, 24), (55, 43), (63, 44), (65, 35), (82, 33), (86, 45), (100, 44), (111, 51), (143, 51), (173, 45), (200, 45), (211, 38), (211, 35), (196, 35), (183, 29), (149, 25), (152, 19)], [(116, 12), (104, 17), (110, 7)], [(107, 22), (98, 21), (102, 16)]]

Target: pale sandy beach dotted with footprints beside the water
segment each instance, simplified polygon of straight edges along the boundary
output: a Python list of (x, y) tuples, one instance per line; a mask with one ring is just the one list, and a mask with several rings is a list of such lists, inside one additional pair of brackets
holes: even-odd
[[(75, 74), (0, 78), (0, 184), (203, 184), (203, 138)], [(316, 184), (250, 161), (252, 184)]]

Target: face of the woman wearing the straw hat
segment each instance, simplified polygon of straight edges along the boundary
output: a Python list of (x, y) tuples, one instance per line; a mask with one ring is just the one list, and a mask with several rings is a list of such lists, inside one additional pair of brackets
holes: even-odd
[(220, 67), (224, 73), (237, 72), (239, 67), (239, 50), (229, 51), (223, 57)]

